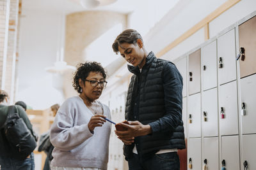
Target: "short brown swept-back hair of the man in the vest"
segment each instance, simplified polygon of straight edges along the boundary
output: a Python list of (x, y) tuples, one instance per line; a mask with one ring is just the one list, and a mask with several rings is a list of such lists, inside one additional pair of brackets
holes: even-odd
[(134, 44), (136, 45), (137, 43), (137, 39), (141, 39), (141, 41), (143, 42), (143, 39), (140, 35), (140, 33), (134, 29), (126, 29), (125, 31), (123, 31), (121, 34), (119, 34), (113, 45), (113, 51), (118, 54), (119, 50), (118, 50), (118, 46), (120, 46), (120, 44), (122, 43), (129, 43), (129, 44)]

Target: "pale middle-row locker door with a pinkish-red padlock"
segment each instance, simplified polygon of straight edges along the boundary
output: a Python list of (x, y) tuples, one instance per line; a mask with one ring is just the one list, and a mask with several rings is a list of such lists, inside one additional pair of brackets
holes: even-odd
[(220, 134), (238, 134), (237, 85), (232, 81), (220, 86)]

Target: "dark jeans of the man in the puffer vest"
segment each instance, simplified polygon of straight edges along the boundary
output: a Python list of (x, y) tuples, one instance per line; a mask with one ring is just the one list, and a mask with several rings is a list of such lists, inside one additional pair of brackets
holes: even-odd
[(140, 155), (133, 153), (128, 159), (129, 170), (180, 170), (180, 160), (177, 152), (154, 154), (143, 160)]

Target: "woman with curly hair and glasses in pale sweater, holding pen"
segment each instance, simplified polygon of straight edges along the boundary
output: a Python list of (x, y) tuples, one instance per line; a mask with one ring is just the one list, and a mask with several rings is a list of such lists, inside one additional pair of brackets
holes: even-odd
[(110, 119), (111, 115), (108, 106), (97, 100), (106, 84), (106, 72), (99, 63), (78, 65), (73, 87), (79, 96), (70, 97), (60, 106), (51, 127), (51, 169), (108, 168), (111, 123), (104, 118)]

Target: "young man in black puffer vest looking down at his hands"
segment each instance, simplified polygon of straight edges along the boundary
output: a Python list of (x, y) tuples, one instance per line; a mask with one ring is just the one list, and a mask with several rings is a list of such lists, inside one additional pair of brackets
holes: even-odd
[(185, 148), (182, 76), (175, 65), (147, 52), (138, 31), (119, 34), (113, 51), (129, 62), (133, 74), (125, 104), (127, 130), (115, 131), (124, 143), (130, 170), (179, 170), (178, 149)]

